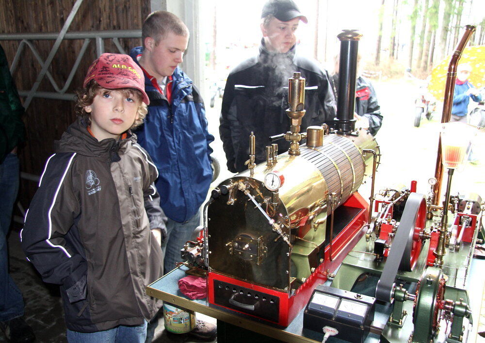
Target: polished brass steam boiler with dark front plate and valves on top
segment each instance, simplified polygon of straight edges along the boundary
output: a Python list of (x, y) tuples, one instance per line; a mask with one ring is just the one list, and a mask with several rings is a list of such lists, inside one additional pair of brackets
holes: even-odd
[[(290, 93), (304, 90), (304, 79), (297, 74), (290, 79)], [(292, 85), (301, 80), (303, 87)], [(304, 97), (290, 94), (289, 99)], [(292, 108), (303, 109), (290, 103)], [(324, 128), (309, 127), (299, 133), (302, 116), (300, 122), (292, 119), (286, 134), (291, 140), (288, 152), (276, 156), (267, 147), (266, 163), (251, 165), (250, 158), (249, 170), (216, 188), (219, 196), (208, 208), (211, 272), (288, 292), (305, 282), (324, 258), (326, 218), (372, 175), (379, 147), (363, 129), (323, 135)], [(298, 146), (298, 135), (307, 138), (306, 145)], [(274, 191), (265, 186), (272, 172), (283, 181)]]

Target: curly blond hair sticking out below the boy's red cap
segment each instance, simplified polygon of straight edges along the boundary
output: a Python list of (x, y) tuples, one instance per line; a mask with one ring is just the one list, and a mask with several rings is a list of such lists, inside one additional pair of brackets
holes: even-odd
[[(84, 111), (84, 107), (91, 106), (93, 104), (94, 98), (101, 94), (103, 90), (111, 90), (110, 88), (101, 87), (95, 80), (91, 80), (87, 85), (86, 88), (82, 88), (81, 90), (76, 92), (76, 105), (74, 107), (74, 111), (77, 115), (81, 116), (86, 124), (89, 126), (91, 125), (91, 113)], [(148, 113), (148, 109), (146, 108), (145, 102), (142, 101), (143, 95), (138, 89), (134, 88), (116, 88), (116, 90), (123, 92), (124, 97), (129, 97), (130, 94), (134, 94), (137, 100), (140, 102), (140, 106), (138, 106), (138, 119), (135, 119), (133, 125), (131, 125), (130, 129), (134, 129), (141, 124), (143, 124), (143, 120)]]

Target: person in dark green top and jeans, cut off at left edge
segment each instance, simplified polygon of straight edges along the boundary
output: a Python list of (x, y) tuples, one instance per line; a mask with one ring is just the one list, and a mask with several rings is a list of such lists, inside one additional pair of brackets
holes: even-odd
[(22, 318), (22, 294), (8, 274), (7, 233), (18, 192), (17, 146), (25, 140), (23, 113), (7, 57), (0, 46), (0, 189), (3, 193), (0, 201), (0, 328), (8, 342), (35, 340), (32, 328)]

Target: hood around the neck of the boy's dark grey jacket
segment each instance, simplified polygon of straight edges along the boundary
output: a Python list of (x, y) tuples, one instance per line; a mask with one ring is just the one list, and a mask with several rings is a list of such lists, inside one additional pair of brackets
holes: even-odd
[(116, 141), (114, 138), (107, 138), (98, 142), (87, 131), (87, 125), (82, 117), (78, 117), (63, 133), (61, 139), (54, 142), (54, 150), (56, 153), (76, 152), (83, 156), (104, 157), (110, 162), (117, 162), (118, 152), (125, 153), (133, 143), (136, 143), (136, 136), (131, 131), (127, 131), (125, 139)]

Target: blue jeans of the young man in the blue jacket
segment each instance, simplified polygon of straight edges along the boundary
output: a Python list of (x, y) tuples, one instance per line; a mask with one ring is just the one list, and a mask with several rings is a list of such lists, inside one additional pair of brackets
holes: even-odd
[(200, 212), (185, 223), (177, 223), (168, 218), (167, 221), (167, 238), (162, 243), (163, 273), (168, 273), (175, 268), (175, 264), (180, 262), (180, 249), (183, 248), (187, 241), (194, 241), (197, 236), (195, 228), (200, 224)]

